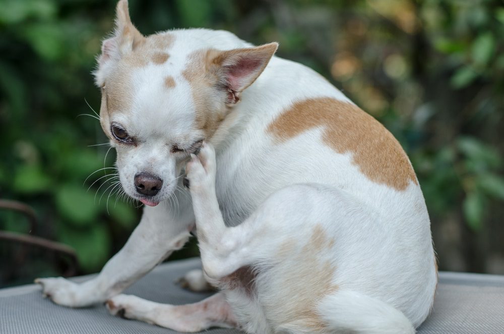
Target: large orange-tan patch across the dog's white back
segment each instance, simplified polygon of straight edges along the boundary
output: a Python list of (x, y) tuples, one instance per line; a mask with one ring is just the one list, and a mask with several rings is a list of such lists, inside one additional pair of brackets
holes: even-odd
[(334, 98), (294, 103), (277, 117), (268, 132), (286, 141), (306, 130), (323, 127), (323, 141), (338, 153), (352, 153), (353, 163), (369, 180), (405, 190), (418, 184), (399, 142), (385, 127), (354, 104)]

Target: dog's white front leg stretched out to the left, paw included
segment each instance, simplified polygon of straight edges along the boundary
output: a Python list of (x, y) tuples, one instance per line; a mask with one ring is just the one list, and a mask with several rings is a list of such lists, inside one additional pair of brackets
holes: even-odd
[(179, 202), (177, 216), (167, 204), (145, 207), (140, 224), (128, 242), (94, 279), (82, 284), (62, 277), (37, 279), (35, 282), (53, 302), (71, 307), (101, 303), (119, 294), (172, 251), (181, 248), (190, 237), (189, 231), (194, 224), (192, 209), (184, 196), (180, 196)]

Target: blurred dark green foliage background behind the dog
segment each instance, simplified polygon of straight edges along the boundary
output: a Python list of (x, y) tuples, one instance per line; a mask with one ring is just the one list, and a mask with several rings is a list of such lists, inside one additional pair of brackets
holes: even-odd
[[(114, 195), (108, 170), (92, 174), (114, 161), (91, 76), (114, 7), (0, 0), (0, 286), (96, 272), (137, 224), (141, 208)], [(144, 34), (207, 27), (280, 42), (280, 57), (400, 140), (439, 268), (504, 274), (504, 2), (131, 0), (130, 11)], [(195, 254), (193, 242), (175, 257)]]

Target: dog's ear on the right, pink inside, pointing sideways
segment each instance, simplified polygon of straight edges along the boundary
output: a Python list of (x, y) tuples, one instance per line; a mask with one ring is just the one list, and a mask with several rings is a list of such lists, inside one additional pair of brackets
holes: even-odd
[(226, 104), (239, 101), (240, 93), (264, 71), (278, 48), (278, 43), (257, 47), (212, 52), (210, 71), (219, 78), (219, 88), (227, 91)]

